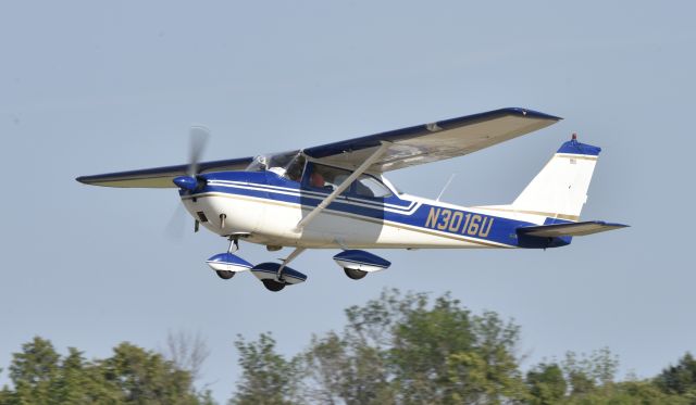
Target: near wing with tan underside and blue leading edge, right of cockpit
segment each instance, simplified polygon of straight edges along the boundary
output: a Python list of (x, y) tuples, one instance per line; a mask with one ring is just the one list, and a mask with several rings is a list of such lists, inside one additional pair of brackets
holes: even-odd
[(307, 148), (304, 154), (320, 163), (358, 167), (382, 142), (388, 142), (387, 151), (368, 169), (383, 173), (465, 155), (560, 119), (531, 110), (501, 109)]

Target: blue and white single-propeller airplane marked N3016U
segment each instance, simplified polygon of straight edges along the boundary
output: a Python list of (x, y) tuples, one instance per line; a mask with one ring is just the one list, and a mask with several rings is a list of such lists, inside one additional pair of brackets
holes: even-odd
[[(562, 118), (508, 107), (258, 156), (76, 178), (85, 185), (176, 188), (200, 226), (229, 241), (207, 263), (222, 279), (250, 270), (270, 291), (307, 280), (288, 265), (308, 249), (339, 249), (333, 258), (359, 280), (390, 266), (365, 249), (548, 249), (627, 225), (580, 220), (600, 148), (573, 134), (512, 203), (460, 206), (401, 192), (384, 176), (403, 167), (465, 155), (545, 128)], [(294, 248), (258, 265), (239, 241), (269, 251)]]

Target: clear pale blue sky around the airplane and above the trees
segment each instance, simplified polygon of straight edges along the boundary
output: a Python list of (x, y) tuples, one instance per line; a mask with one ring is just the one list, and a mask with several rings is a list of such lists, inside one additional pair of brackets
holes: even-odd
[[(621, 375), (696, 351), (693, 185), (696, 7), (667, 2), (5, 1), (0, 4), (0, 367), (34, 336), (87, 357), (199, 332), (202, 382), (231, 396), (233, 342), (271, 331), (286, 354), (341, 328), (385, 288), (442, 294), (522, 327), (524, 367), (608, 346)], [(87, 187), (80, 175), (293, 150), (505, 106), (559, 124), (468, 156), (389, 173), (408, 193), (511, 202), (577, 132), (602, 148), (584, 219), (630, 224), (562, 249), (377, 251), (349, 280), (335, 251), (294, 262), (281, 293), (219, 279), (210, 232), (165, 229), (175, 190)], [(191, 224), (192, 228), (192, 224)], [(252, 263), (281, 257), (246, 243)], [(8, 381), (7, 370), (0, 383)]]

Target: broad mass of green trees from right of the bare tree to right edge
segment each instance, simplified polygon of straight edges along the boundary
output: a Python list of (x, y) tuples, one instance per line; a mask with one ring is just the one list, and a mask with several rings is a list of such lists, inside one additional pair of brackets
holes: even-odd
[(691, 355), (655, 380), (617, 381), (608, 349), (566, 353), (524, 378), (520, 329), (472, 314), (445, 294), (384, 291), (346, 309), (339, 331), (314, 336), (294, 357), (261, 334), (237, 341), (243, 377), (233, 404), (696, 404)]

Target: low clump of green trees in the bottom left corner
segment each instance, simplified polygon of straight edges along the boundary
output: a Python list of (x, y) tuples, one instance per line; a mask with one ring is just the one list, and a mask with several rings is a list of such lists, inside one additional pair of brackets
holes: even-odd
[(14, 353), (10, 379), (13, 389), (0, 391), (2, 405), (211, 403), (195, 392), (189, 371), (129, 343), (114, 347), (109, 358), (87, 362), (76, 349), (61, 356), (37, 337)]

